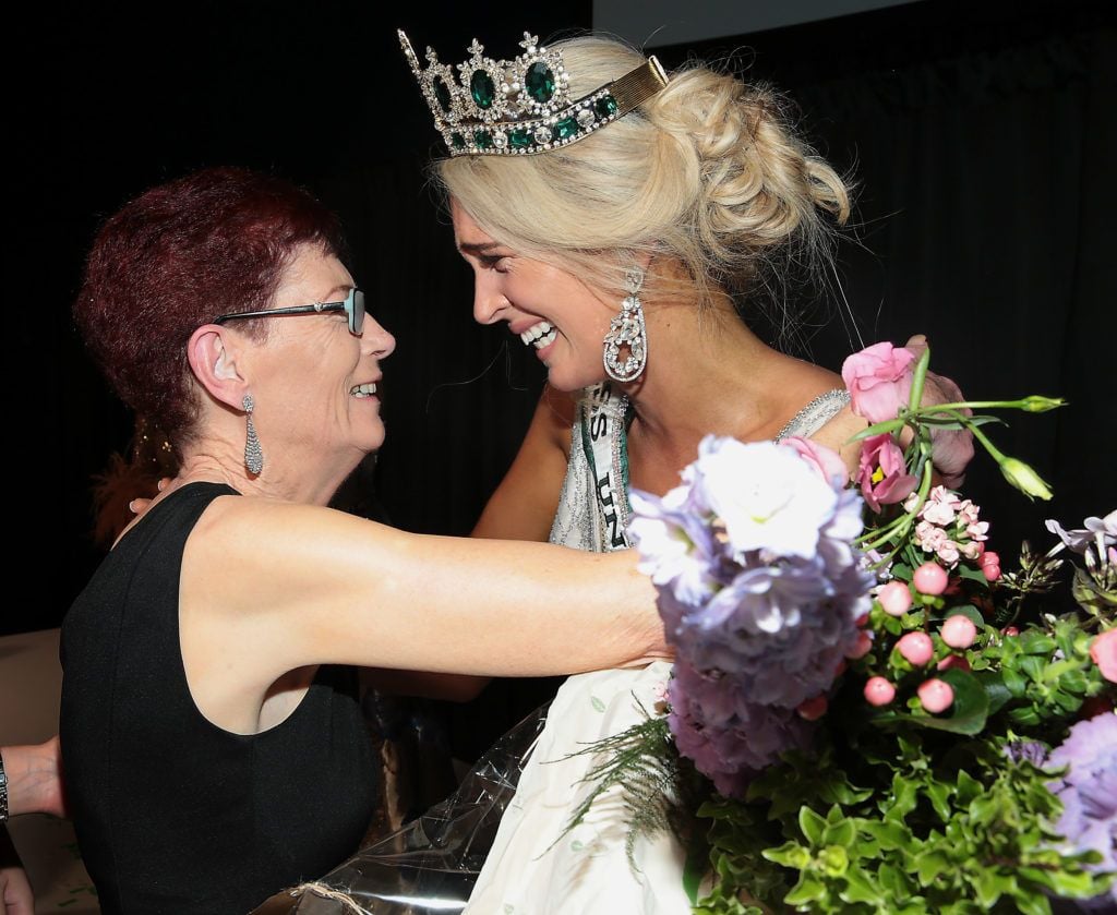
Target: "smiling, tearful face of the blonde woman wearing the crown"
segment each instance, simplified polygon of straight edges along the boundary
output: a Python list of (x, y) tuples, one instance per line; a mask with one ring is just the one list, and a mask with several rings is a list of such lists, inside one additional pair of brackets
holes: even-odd
[(573, 274), (496, 241), (456, 200), (451, 212), (458, 250), (474, 268), (474, 318), (506, 322), (535, 349), (547, 380), (561, 391), (602, 381), (601, 341), (618, 306)]

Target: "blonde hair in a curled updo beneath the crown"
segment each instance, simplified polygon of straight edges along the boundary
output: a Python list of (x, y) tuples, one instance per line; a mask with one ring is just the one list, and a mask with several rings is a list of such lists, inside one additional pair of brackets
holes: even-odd
[[(572, 98), (640, 66), (619, 41), (560, 41)], [(738, 307), (785, 266), (818, 273), (843, 222), (842, 179), (795, 134), (783, 104), (700, 64), (670, 75), (640, 109), (560, 150), (458, 156), (436, 178), (517, 254), (618, 298), (624, 269), (650, 258), (643, 301)], [(672, 265), (665, 269), (663, 265)]]

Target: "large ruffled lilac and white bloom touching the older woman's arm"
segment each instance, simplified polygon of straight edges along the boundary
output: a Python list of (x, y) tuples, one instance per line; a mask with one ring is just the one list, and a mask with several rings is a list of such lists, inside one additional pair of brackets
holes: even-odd
[(722, 793), (792, 747), (795, 708), (858, 638), (873, 575), (853, 540), (861, 498), (793, 447), (708, 436), (682, 485), (634, 493), (630, 533), (677, 649), (670, 727)]

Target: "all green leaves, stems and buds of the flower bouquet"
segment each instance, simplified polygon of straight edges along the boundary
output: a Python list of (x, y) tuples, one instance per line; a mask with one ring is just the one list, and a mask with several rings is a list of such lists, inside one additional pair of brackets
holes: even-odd
[[(675, 753), (666, 719), (649, 719), (585, 751), (611, 759), (591, 773), (598, 784), (571, 826), (601, 791), (623, 783), (631, 856), (642, 831), (667, 826), (679, 831), (657, 791), (695, 811), (688, 876), (708, 862), (697, 915), (1049, 915), (1051, 898), (1089, 898), (1117, 878), (1091, 870), (1097, 854), (1076, 852), (1057, 835), (1061, 803), (1048, 787), (1056, 776), (1013, 762), (1005, 752), (1019, 740), (1050, 747), (1065, 738), (1088, 700), (1117, 700), (1117, 688), (1102, 679), (1089, 654), (1094, 633), (1117, 627), (1117, 563), (1107, 560), (1100, 543), (1087, 550), (1086, 568), (1075, 566), (1071, 583), (1080, 611), (1034, 614), (1037, 621), (1009, 629), (1029, 598), (1059, 584), (1063, 545), (1039, 554), (1025, 543), (1020, 568), (991, 573), (991, 584), (978, 561), (981, 544), (973, 542), (984, 538), (971, 527), (976, 514), (963, 523), (960, 507), (954, 521), (935, 522), (944, 536), (957, 540), (953, 560), (916, 531), (927, 499), (942, 495), (930, 486), (932, 427), (970, 429), (1010, 483), (1029, 497), (1047, 498), (1035, 471), (1000, 452), (981, 431), (993, 418), (965, 412), (1042, 412), (1060, 401), (923, 406), (928, 359), (925, 350), (898, 417), (853, 437), (898, 436), (904, 427), (911, 433), (905, 458), (908, 473), (920, 480), (918, 489), (903, 506), (870, 514), (858, 538), (862, 550), (876, 553), (872, 568), (908, 584), (911, 606), (906, 612), (892, 607), (900, 614), (890, 616), (873, 601), (867, 620), (872, 647), (850, 663), (829, 694), (812, 751), (785, 754), (753, 779), (744, 798), (709, 791), (700, 806), (694, 793), (682, 794), (693, 784), (693, 770), (667, 759)], [(949, 587), (942, 594), (923, 594), (911, 584), (915, 570), (927, 562), (948, 570)], [(965, 648), (946, 645), (941, 635), (944, 622), (960, 614), (976, 628)], [(933, 645), (933, 657), (919, 666), (897, 648), (914, 631), (927, 633)], [(968, 633), (952, 640), (957, 646)], [(861, 694), (870, 677), (884, 677), (896, 689), (884, 708), (868, 705)], [(953, 702), (937, 715), (918, 698), (929, 678), (953, 690)], [(703, 838), (705, 855), (696, 854), (704, 851)]]

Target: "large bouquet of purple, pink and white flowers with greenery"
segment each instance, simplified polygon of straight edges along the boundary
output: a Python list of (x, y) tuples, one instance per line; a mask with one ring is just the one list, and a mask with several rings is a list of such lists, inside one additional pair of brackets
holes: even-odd
[[(681, 828), (696, 913), (1117, 904), (1117, 512), (1049, 522), (1058, 543), (1010, 569), (932, 454), (971, 432), (1049, 498), (983, 411), (1060, 401), (922, 406), (928, 360), (877, 344), (847, 361), (872, 423), (852, 486), (811, 441), (710, 437), (679, 487), (633, 494), (677, 660), (648, 723), (591, 751), (610, 754), (602, 787), (665, 782), (672, 816), (633, 819)], [(1065, 552), (1073, 612), (1040, 597)]]

